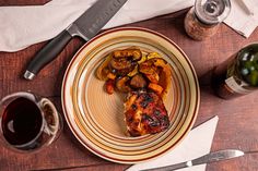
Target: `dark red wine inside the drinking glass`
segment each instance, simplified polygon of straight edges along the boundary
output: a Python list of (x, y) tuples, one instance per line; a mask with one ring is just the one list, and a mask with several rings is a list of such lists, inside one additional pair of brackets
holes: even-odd
[[(1, 125), (3, 136), (11, 145), (24, 145), (38, 136), (43, 125), (42, 112), (32, 100), (19, 97), (3, 111)], [(26, 148), (34, 148), (35, 143), (36, 139)]]

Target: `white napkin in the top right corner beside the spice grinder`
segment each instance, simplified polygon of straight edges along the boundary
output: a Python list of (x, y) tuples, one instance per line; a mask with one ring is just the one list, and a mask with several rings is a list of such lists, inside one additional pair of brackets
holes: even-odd
[(245, 37), (258, 26), (258, 0), (231, 0), (232, 10), (225, 24)]

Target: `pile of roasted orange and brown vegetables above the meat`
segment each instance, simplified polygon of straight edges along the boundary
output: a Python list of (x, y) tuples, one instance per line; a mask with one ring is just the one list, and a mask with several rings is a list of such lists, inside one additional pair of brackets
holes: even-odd
[(138, 48), (115, 50), (97, 68), (97, 78), (106, 81), (106, 90), (154, 91), (163, 99), (172, 80), (169, 64), (157, 52), (141, 52)]

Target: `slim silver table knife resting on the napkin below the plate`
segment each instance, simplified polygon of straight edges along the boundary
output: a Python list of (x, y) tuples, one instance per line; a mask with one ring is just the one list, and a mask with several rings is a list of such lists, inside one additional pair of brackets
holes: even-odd
[(183, 168), (190, 168), (192, 166), (209, 163), (209, 162), (215, 162), (221, 160), (227, 160), (236, 157), (241, 157), (245, 155), (244, 151), (237, 150), (237, 149), (226, 149), (226, 150), (218, 150), (214, 152), (210, 152), (208, 155), (201, 156), (199, 158), (196, 158), (194, 160), (189, 160), (186, 162), (180, 162), (167, 167), (161, 167), (161, 168), (154, 168), (154, 169), (148, 169), (142, 171), (172, 171)]

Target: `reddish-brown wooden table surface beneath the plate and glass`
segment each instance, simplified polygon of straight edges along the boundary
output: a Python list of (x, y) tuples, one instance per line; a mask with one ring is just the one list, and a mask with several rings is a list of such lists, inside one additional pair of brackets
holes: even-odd
[[(43, 4), (47, 0), (1, 0), (0, 5)], [(201, 103), (195, 126), (219, 115), (219, 124), (212, 143), (212, 150), (238, 148), (258, 149), (258, 91), (233, 100), (218, 98), (210, 85), (209, 71), (226, 60), (244, 45), (258, 40), (258, 29), (244, 38), (226, 25), (206, 41), (190, 39), (184, 30), (186, 10), (126, 26), (140, 26), (156, 30), (175, 41), (192, 62), (200, 82)], [(3, 21), (2, 21), (3, 22)], [(0, 30), (1, 32), (1, 30)], [(66, 68), (72, 56), (84, 44), (74, 38), (59, 58), (46, 66), (33, 81), (25, 81), (22, 74), (28, 61), (46, 42), (33, 45), (17, 52), (0, 52), (0, 97), (19, 90), (32, 90), (49, 97), (62, 114), (60, 87)], [(258, 154), (246, 155), (233, 160), (208, 164), (207, 171), (256, 171)], [(124, 170), (119, 164), (96, 157), (80, 145), (68, 125), (50, 147), (38, 154), (20, 155), (0, 146), (0, 170)]]

